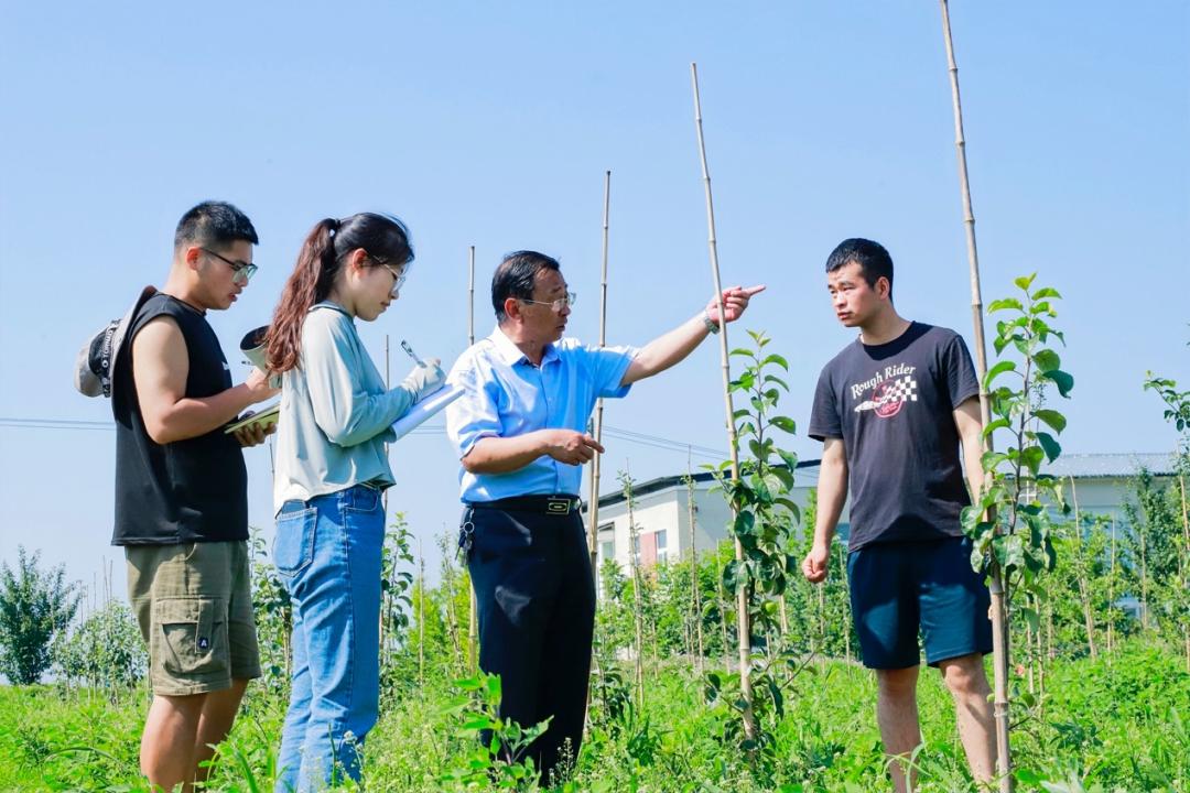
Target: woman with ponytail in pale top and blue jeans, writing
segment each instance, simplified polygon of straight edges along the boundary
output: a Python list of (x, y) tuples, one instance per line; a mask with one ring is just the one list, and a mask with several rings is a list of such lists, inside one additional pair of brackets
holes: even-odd
[(437, 360), (386, 389), (356, 333), (397, 298), (413, 248), (395, 218), (320, 221), (268, 334), (282, 376), (273, 553), (293, 602), (293, 679), (276, 789), (359, 779), (357, 749), (380, 700), (382, 491), (390, 426), (445, 380)]

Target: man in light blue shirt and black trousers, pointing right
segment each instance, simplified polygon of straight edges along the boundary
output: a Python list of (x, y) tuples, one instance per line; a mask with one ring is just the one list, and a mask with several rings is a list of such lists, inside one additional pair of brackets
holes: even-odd
[[(739, 319), (764, 287), (724, 291)], [(528, 749), (546, 781), (583, 735), (595, 589), (578, 512), (582, 464), (603, 447), (584, 432), (600, 397), (677, 364), (719, 332), (719, 301), (640, 350), (562, 339), (574, 292), (557, 260), (505, 257), (491, 279), (497, 327), (456, 361), (446, 409), (458, 452), (459, 534), (480, 612), (480, 666), (502, 678), (500, 716), (550, 719)]]

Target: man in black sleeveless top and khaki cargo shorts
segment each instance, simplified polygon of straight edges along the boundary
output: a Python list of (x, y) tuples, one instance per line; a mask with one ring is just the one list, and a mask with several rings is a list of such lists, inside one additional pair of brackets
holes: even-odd
[[(113, 376), (115, 527), (129, 599), (149, 644), (154, 701), (140, 769), (155, 789), (205, 776), (248, 680), (261, 674), (248, 560), (240, 448), (261, 429), (224, 427), (276, 394), (259, 372), (232, 386), (206, 311), (224, 310), (256, 270), (251, 221), (205, 202), (182, 216), (161, 291), (129, 328)], [(201, 731), (200, 731), (201, 725)]]

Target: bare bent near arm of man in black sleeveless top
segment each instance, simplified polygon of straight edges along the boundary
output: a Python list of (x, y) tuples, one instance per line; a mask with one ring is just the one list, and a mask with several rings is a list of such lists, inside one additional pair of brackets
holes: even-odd
[[(248, 382), (214, 396), (186, 397), (190, 371), (186, 339), (168, 316), (151, 320), (132, 340), (132, 379), (145, 429), (157, 443), (206, 435), (223, 427), (250, 404), (275, 395), (268, 377), (253, 370)], [(243, 441), (242, 441), (243, 442)]]

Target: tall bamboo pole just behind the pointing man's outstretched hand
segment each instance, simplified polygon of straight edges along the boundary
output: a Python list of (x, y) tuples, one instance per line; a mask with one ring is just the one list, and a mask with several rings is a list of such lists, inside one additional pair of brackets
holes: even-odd
[[(727, 353), (727, 322), (724, 311), (724, 285), (719, 277), (719, 245), (715, 239), (715, 204), (710, 196), (710, 171), (707, 169), (707, 145), (702, 137), (702, 102), (699, 99), (699, 67), (690, 64), (690, 82), (694, 87), (694, 122), (699, 132), (699, 158), (702, 163), (702, 184), (707, 196), (707, 247), (710, 251), (710, 275), (715, 283), (715, 302), (719, 306), (719, 354), (724, 371), (724, 407), (727, 415), (727, 446), (732, 454), (732, 479), (740, 478), (739, 438), (735, 434), (735, 409), (731, 391), (731, 357)], [(732, 510), (734, 516), (734, 508)], [(744, 561), (744, 546), (735, 540), (735, 560)], [(749, 586), (739, 587), (735, 593), (735, 611), (739, 621), (739, 656), (740, 656), (740, 699), (743, 700), (744, 734), (750, 741), (756, 739), (756, 715), (752, 712), (752, 638), (749, 621)]]

